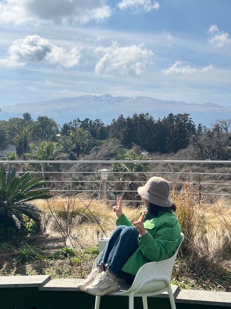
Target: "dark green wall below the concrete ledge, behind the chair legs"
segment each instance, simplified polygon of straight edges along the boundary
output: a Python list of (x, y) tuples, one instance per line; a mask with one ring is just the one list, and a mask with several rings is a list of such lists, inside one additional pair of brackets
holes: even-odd
[[(39, 291), (37, 287), (0, 288), (0, 309), (94, 309), (95, 297), (75, 291)], [(168, 298), (148, 298), (149, 309), (170, 309)], [(177, 309), (224, 309), (176, 303)], [(142, 298), (135, 297), (134, 309), (141, 309)], [(128, 297), (101, 297), (100, 309), (128, 309)]]

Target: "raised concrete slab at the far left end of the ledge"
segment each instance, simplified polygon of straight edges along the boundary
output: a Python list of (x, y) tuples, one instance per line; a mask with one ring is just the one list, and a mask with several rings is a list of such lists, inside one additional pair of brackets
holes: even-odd
[(1, 276), (0, 288), (2, 287), (42, 287), (51, 280), (48, 275), (35, 276)]

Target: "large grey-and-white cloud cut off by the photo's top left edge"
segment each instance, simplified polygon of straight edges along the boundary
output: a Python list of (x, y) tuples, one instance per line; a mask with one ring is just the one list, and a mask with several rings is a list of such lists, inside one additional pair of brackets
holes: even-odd
[(103, 20), (112, 10), (107, 0), (0, 1), (0, 23), (79, 22)]

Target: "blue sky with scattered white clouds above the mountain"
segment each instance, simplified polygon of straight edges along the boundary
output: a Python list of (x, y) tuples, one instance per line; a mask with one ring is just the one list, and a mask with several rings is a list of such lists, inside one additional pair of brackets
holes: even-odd
[(0, 0), (0, 106), (82, 94), (231, 105), (230, 0)]

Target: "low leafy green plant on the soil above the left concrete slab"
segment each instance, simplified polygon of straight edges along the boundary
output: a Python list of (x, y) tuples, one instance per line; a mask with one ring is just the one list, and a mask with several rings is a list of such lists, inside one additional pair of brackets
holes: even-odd
[(41, 255), (41, 249), (35, 246), (29, 246), (29, 244), (26, 243), (25, 246), (18, 252), (18, 256), (16, 258), (16, 264), (30, 263), (41, 258), (44, 258), (44, 256)]

